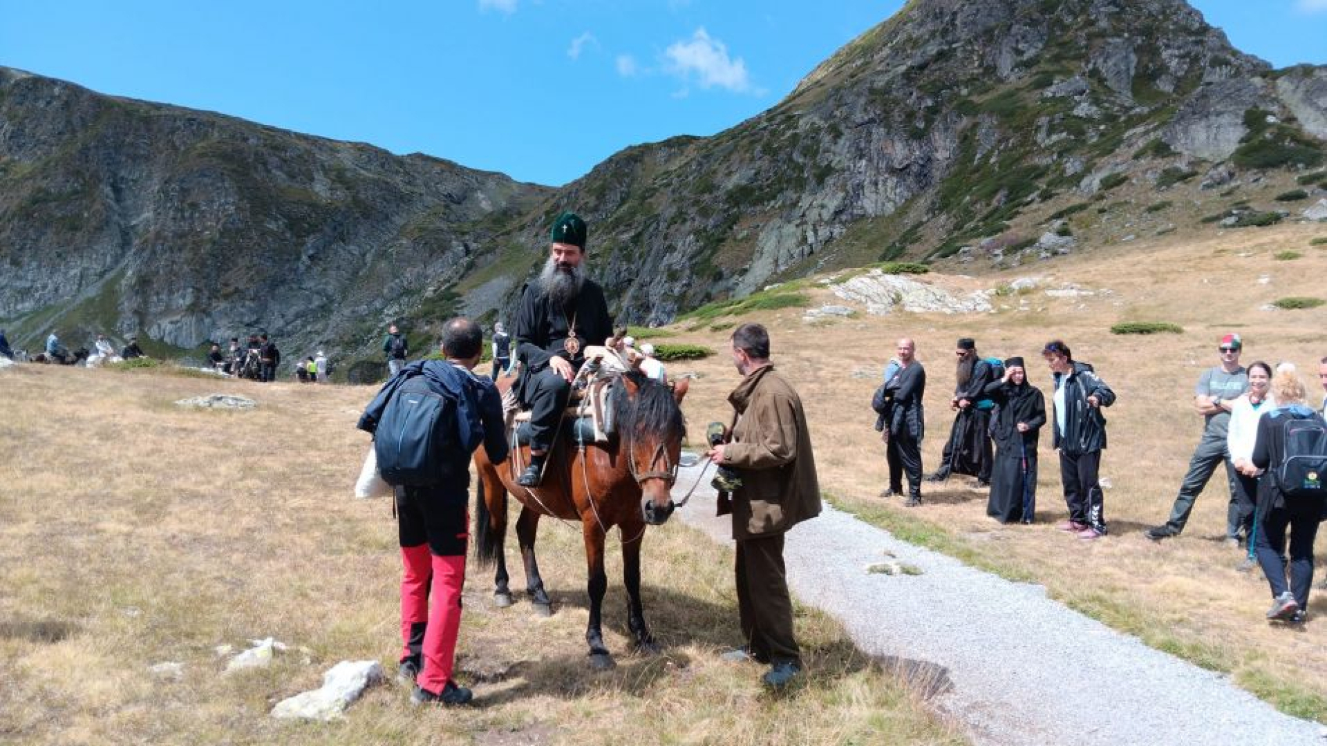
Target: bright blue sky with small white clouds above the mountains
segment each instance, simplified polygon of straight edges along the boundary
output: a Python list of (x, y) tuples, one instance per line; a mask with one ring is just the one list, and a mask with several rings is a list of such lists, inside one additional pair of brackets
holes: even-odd
[[(1327, 0), (1197, 0), (1327, 64)], [(0, 65), (561, 185), (772, 106), (901, 0), (0, 0)]]

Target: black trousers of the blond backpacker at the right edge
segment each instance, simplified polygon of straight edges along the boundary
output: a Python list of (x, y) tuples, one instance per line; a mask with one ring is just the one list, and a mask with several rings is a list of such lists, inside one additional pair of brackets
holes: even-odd
[[(1273, 495), (1261, 495), (1271, 500)], [(1259, 506), (1258, 535), (1254, 546), (1258, 564), (1267, 576), (1271, 595), (1290, 591), (1299, 608), (1308, 607), (1308, 588), (1314, 583), (1314, 539), (1323, 503), (1320, 499), (1286, 498), (1283, 507)], [(1286, 585), (1286, 527), (1290, 527), (1290, 585)]]

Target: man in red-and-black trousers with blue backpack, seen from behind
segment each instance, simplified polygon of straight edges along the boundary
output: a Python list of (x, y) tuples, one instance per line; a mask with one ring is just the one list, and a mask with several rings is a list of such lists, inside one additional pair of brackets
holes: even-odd
[(447, 321), (447, 360), (403, 366), (358, 423), (374, 434), (378, 471), (395, 487), (405, 568), (398, 680), (414, 682), (414, 704), (464, 705), (472, 698), (451, 678), (466, 580), (470, 457), (483, 443), (492, 463), (507, 459), (498, 389), (471, 373), (482, 350), (478, 324)]

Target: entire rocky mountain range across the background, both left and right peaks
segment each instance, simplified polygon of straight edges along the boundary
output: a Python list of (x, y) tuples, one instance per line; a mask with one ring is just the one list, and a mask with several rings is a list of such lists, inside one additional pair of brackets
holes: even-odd
[(768, 112), (556, 191), (0, 70), (0, 319), (364, 349), (390, 317), (507, 316), (575, 208), (618, 320), (665, 323), (825, 268), (1062, 251), (1059, 206), (1316, 166), (1324, 137), (1327, 68), (1271, 70), (1182, 0), (913, 0)]

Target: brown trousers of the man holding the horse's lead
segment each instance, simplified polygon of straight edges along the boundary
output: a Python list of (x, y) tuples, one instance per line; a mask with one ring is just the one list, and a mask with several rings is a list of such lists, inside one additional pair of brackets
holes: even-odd
[(792, 597), (783, 569), (783, 534), (738, 542), (738, 613), (751, 656), (802, 665), (792, 636)]

